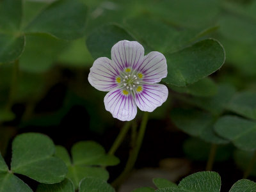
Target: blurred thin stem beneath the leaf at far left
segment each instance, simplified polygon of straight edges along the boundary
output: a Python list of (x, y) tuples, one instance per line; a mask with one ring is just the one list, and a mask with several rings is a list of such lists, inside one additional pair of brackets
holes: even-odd
[(16, 60), (13, 65), (12, 70), (12, 79), (10, 83), (10, 93), (9, 93), (9, 99), (7, 102), (7, 109), (11, 109), (13, 105), (13, 101), (15, 99), (15, 94), (17, 93), (17, 83), (18, 83), (18, 77), (19, 77), (19, 60)]

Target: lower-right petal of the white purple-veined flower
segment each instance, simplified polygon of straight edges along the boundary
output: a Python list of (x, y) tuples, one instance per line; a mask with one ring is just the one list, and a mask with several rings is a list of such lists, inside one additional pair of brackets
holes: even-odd
[(143, 84), (138, 86), (135, 102), (141, 111), (152, 112), (161, 106), (168, 97), (168, 88), (164, 84)]

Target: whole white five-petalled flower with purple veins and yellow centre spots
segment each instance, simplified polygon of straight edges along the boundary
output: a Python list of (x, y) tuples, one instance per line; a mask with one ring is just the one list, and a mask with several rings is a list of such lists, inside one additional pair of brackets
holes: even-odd
[(109, 92), (104, 98), (106, 110), (122, 121), (132, 120), (141, 111), (152, 112), (168, 97), (168, 89), (158, 84), (167, 76), (163, 54), (152, 51), (144, 56), (138, 42), (122, 40), (106, 57), (94, 61), (88, 81), (97, 90)]

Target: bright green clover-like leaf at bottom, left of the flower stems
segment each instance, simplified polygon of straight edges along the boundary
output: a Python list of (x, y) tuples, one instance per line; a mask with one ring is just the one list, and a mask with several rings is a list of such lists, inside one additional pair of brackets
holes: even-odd
[(104, 148), (94, 141), (76, 143), (71, 149), (71, 154), (72, 161), (64, 147), (56, 147), (56, 156), (63, 159), (67, 164), (67, 178), (72, 180), (76, 189), (84, 177), (108, 180), (109, 174), (103, 166), (119, 163), (119, 159), (107, 155)]

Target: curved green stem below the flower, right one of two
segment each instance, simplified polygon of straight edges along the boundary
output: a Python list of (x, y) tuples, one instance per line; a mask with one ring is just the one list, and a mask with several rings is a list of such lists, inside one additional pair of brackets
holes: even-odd
[(136, 145), (134, 148), (132, 148), (129, 158), (127, 160), (127, 163), (125, 165), (124, 171), (121, 173), (121, 175), (112, 183), (114, 187), (118, 187), (122, 181), (127, 177), (127, 175), (131, 172), (134, 164), (136, 163), (138, 154), (140, 152), (141, 144), (145, 135), (146, 127), (147, 127), (147, 122), (148, 122), (148, 112), (144, 112), (141, 125), (140, 125), (140, 130), (138, 132), (138, 137), (136, 140)]

